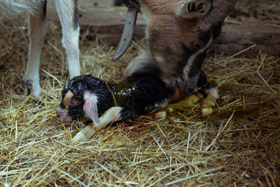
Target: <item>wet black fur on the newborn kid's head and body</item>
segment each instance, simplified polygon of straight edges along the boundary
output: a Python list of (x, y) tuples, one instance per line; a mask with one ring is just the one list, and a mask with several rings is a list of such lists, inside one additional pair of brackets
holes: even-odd
[[(134, 87), (128, 91), (119, 90), (120, 86), (125, 88), (127, 85), (134, 85)], [(80, 102), (78, 106), (65, 106), (63, 98), (69, 90), (73, 93), (72, 99)], [(62, 103), (59, 109), (65, 109), (67, 116), (72, 120), (83, 116), (84, 98), (87, 92), (97, 97), (99, 117), (111, 107), (121, 106), (119, 120), (132, 118), (146, 113), (148, 109), (153, 109), (155, 106), (167, 104), (174, 94), (174, 90), (168, 90), (157, 74), (133, 74), (119, 84), (106, 83), (99, 78), (83, 75), (66, 83), (62, 90)]]

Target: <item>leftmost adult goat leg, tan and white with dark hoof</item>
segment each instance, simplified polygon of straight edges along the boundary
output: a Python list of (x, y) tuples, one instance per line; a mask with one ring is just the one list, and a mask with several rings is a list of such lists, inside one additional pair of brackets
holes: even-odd
[(45, 40), (45, 13), (46, 3), (43, 2), (36, 8), (36, 14), (29, 15), (29, 56), (27, 70), (22, 82), (25, 84), (25, 95), (31, 92), (34, 96), (40, 95), (39, 66), (41, 49)]

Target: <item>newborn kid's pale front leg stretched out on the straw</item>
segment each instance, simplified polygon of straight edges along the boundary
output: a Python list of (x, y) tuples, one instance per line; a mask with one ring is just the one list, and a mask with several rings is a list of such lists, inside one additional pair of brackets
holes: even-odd
[(100, 117), (100, 123), (97, 125), (90, 123), (85, 128), (83, 128), (83, 130), (78, 132), (76, 136), (73, 137), (72, 141), (85, 141), (90, 139), (95, 133), (97, 133), (97, 130), (102, 129), (102, 127), (105, 125), (121, 120), (122, 110), (123, 107), (121, 106), (111, 107)]

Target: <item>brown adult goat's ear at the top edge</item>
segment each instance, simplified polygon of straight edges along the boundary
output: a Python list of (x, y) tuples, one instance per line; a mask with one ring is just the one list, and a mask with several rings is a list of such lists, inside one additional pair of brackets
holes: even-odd
[(181, 18), (198, 18), (205, 15), (212, 6), (212, 0), (189, 0), (181, 4), (175, 10), (175, 14)]

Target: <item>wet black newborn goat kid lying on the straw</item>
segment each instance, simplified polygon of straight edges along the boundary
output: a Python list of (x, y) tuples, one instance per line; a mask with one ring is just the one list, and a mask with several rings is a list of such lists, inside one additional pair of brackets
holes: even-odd
[[(202, 75), (200, 83), (204, 83), (204, 90), (211, 92), (213, 85), (207, 83)], [(210, 92), (211, 97), (218, 95)], [(57, 120), (71, 122), (84, 115), (90, 118), (94, 125), (87, 125), (73, 138), (73, 141), (86, 140), (104, 125), (139, 116), (178, 99), (178, 92), (165, 86), (156, 69), (151, 73), (132, 74), (125, 82), (117, 84), (106, 83), (90, 75), (77, 76), (62, 90)]]

